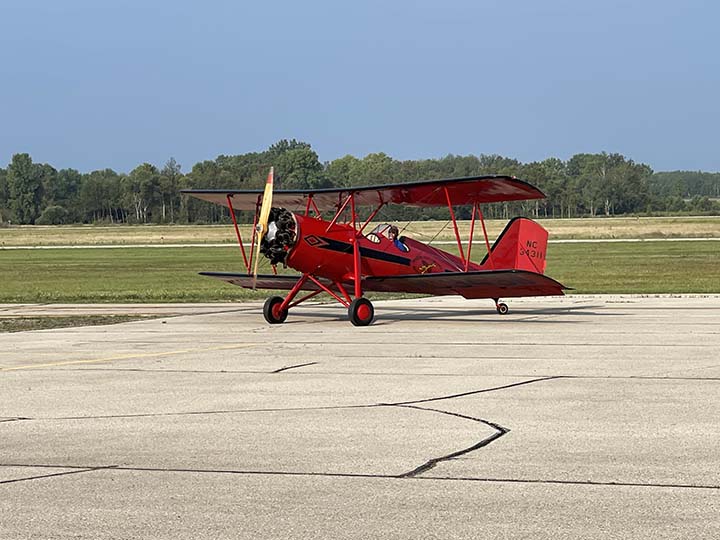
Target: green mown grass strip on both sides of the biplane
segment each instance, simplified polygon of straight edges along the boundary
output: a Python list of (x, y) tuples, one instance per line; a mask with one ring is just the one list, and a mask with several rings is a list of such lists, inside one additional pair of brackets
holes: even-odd
[[(554, 244), (548, 251), (547, 274), (575, 293), (720, 293), (716, 241)], [(267, 291), (197, 275), (201, 270), (242, 268), (239, 252), (229, 248), (0, 251), (0, 302), (265, 298)]]

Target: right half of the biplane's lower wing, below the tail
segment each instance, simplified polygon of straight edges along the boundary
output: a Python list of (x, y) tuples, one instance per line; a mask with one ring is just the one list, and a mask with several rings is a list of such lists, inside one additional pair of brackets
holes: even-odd
[(363, 279), (367, 291), (406, 292), (465, 298), (511, 298), (562, 295), (567, 289), (552, 278), (527, 270), (439, 272), (407, 276), (375, 276)]

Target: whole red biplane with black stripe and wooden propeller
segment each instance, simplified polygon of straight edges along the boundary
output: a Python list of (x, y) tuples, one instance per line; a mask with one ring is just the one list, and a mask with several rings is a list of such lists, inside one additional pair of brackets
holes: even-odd
[[(508, 306), (500, 302), (501, 297), (562, 295), (566, 289), (543, 275), (548, 233), (538, 223), (515, 218), (490, 245), (481, 204), (545, 197), (536, 187), (509, 176), (273, 192), (271, 169), (264, 191), (190, 189), (183, 193), (230, 210), (247, 270), (202, 275), (245, 288), (289, 291), (284, 298), (272, 296), (265, 302), (263, 314), (270, 324), (284, 322), (291, 308), (323, 292), (348, 309), (352, 324), (366, 326), (374, 318), (373, 305), (363, 296), (368, 291), (491, 298), (498, 313), (505, 314)], [(447, 206), (459, 256), (412, 238), (392, 238), (392, 227), (387, 224), (366, 232), (388, 204)], [(465, 245), (454, 211), (462, 205), (472, 206)], [(364, 220), (358, 215), (361, 208), (368, 208)], [(235, 210), (255, 212), (249, 258)], [(322, 212), (330, 211), (333, 217), (323, 219)], [(476, 263), (470, 257), (478, 219), (487, 252)], [(269, 259), (273, 274), (257, 274), (261, 255)], [(278, 264), (299, 275), (277, 274)], [(301, 291), (305, 294), (299, 297)]]

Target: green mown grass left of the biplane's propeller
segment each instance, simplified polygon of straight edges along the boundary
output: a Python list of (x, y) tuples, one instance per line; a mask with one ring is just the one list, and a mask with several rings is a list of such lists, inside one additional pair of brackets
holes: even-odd
[(0, 251), (0, 302), (203, 302), (263, 298), (201, 270), (241, 271), (230, 248)]

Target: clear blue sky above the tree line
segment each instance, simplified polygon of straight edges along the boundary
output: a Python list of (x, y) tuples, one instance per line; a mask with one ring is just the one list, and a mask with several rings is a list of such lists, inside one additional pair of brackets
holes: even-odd
[(187, 171), (296, 138), (323, 161), (718, 171), (718, 20), (709, 0), (3, 2), (0, 164)]

